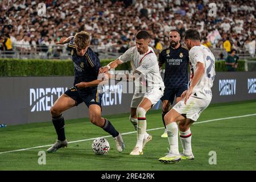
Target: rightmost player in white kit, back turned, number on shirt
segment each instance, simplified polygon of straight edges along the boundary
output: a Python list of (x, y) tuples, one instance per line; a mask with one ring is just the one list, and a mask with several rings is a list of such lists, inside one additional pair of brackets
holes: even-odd
[[(200, 114), (212, 100), (213, 80), (215, 76), (215, 58), (209, 48), (200, 44), (200, 34), (189, 29), (185, 32), (184, 41), (189, 49), (191, 66), (191, 81), (188, 90), (181, 94), (178, 102), (164, 117), (166, 122), (169, 154), (159, 158), (163, 163), (175, 163), (182, 160), (194, 159), (191, 147), (191, 131), (189, 127), (197, 121)], [(180, 155), (178, 146), (178, 127), (180, 126), (180, 141), (183, 152)]]

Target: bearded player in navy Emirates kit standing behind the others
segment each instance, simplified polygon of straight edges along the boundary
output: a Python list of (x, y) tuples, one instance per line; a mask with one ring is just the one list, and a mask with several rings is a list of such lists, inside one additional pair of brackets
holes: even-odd
[[(164, 72), (164, 96), (161, 98), (163, 102), (162, 120), (164, 123), (164, 115), (171, 110), (171, 105), (181, 100), (181, 94), (188, 89), (188, 49), (180, 44), (180, 33), (178, 30), (171, 30), (169, 34), (170, 46), (163, 49), (159, 53), (158, 64), (162, 69), (166, 64)], [(165, 131), (161, 137), (167, 138), (166, 124)]]

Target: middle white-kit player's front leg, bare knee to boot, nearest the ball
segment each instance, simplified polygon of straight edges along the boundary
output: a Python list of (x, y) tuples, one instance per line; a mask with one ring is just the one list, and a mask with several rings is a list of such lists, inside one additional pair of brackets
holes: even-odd
[(148, 98), (143, 98), (137, 108), (138, 127), (137, 127), (137, 143), (130, 155), (142, 155), (143, 154), (143, 140), (146, 134), (147, 122), (146, 113), (151, 109), (152, 103)]

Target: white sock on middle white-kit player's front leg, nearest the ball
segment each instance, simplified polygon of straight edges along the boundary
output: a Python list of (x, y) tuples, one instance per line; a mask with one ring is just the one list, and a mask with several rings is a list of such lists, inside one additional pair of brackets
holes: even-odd
[(138, 116), (138, 127), (137, 127), (136, 147), (139, 147), (139, 150), (142, 151), (143, 139), (146, 135), (146, 129), (147, 129), (146, 110), (144, 110), (142, 107), (138, 107), (137, 116)]

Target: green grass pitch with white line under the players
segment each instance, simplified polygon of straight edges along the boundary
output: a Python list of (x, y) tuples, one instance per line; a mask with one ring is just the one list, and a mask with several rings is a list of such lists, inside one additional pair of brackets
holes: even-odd
[[(46, 164), (38, 164), (38, 152), (48, 147), (32, 148), (0, 154), (0, 170), (256, 170), (256, 115), (204, 122), (210, 119), (255, 114), (256, 101), (212, 104), (191, 127), (192, 150), (195, 160), (175, 164), (163, 164), (158, 158), (168, 152), (167, 138), (161, 138), (163, 129), (150, 130), (153, 137), (144, 148), (144, 155), (129, 155), (136, 143), (136, 133), (123, 135), (125, 151), (118, 153), (114, 140), (108, 137), (110, 151), (107, 155), (95, 155), (92, 140), (69, 143), (53, 154), (46, 153)], [(64, 114), (65, 117), (65, 114)], [(149, 111), (147, 129), (163, 127), (160, 110)], [(115, 128), (121, 133), (134, 131), (129, 114), (110, 115)], [(69, 142), (109, 135), (85, 119), (65, 121)], [(0, 128), (0, 153), (44, 146), (55, 142), (55, 129), (51, 122)], [(179, 140), (180, 144), (180, 140)], [(180, 145), (181, 151), (181, 145)], [(216, 151), (217, 164), (209, 164), (210, 151)]]

